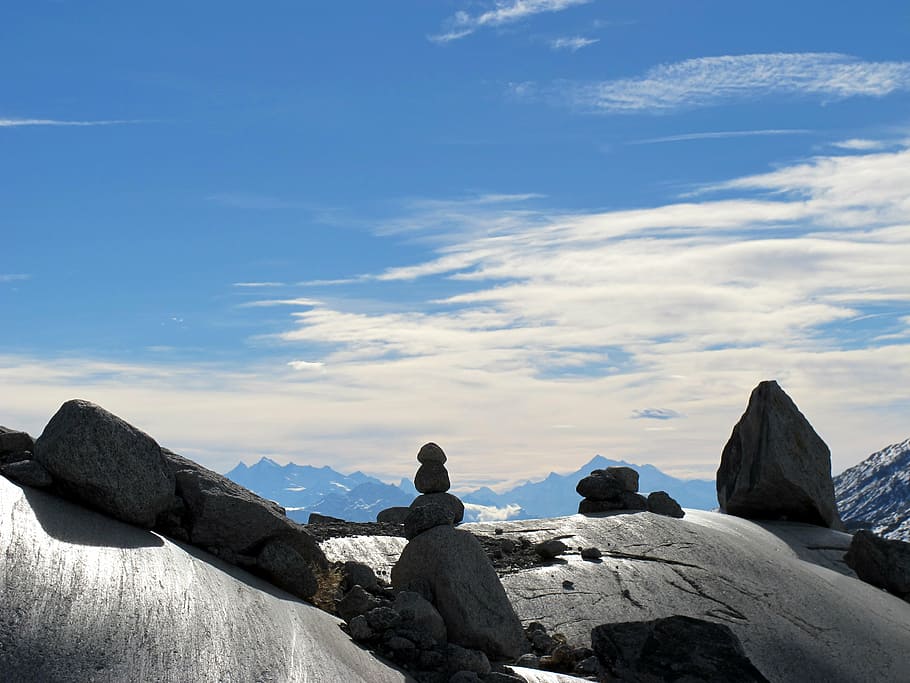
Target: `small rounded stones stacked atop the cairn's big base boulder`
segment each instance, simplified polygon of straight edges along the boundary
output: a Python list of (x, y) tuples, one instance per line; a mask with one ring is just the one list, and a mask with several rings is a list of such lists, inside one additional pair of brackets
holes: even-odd
[(414, 475), (414, 487), (421, 495), (411, 503), (405, 518), (405, 536), (417, 534), (442, 524), (454, 525), (464, 519), (464, 503), (448, 493), (449, 473), (446, 454), (435, 443), (424, 444), (417, 453), (420, 467)]

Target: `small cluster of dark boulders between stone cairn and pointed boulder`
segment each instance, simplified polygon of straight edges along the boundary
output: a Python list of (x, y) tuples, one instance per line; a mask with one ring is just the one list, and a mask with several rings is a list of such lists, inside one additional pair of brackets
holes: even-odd
[(685, 513), (666, 491), (654, 491), (647, 498), (638, 492), (638, 472), (631, 467), (608, 467), (594, 470), (578, 482), (575, 490), (583, 500), (580, 514), (598, 512), (639, 512), (647, 510), (667, 517)]

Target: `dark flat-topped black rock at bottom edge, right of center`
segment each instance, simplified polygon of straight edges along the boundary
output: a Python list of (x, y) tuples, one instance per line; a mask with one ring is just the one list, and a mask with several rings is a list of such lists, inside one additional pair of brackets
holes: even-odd
[[(766, 683), (729, 626), (686, 616), (603, 624), (591, 646), (611, 677), (620, 680)], [(612, 680), (612, 679), (611, 679)]]

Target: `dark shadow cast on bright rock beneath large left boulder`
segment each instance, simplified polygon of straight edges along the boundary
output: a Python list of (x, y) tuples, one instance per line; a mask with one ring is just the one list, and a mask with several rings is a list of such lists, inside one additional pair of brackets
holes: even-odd
[(107, 548), (154, 548), (164, 541), (150, 531), (107, 517), (28, 486), (25, 500), (44, 532), (58, 541)]

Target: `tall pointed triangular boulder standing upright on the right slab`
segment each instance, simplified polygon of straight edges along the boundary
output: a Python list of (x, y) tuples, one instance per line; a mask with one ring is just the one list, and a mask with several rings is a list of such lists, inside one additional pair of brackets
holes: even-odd
[(724, 512), (840, 528), (831, 453), (777, 382), (762, 382), (733, 428), (717, 470)]

